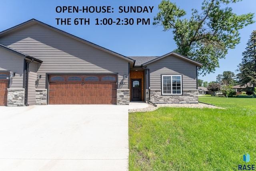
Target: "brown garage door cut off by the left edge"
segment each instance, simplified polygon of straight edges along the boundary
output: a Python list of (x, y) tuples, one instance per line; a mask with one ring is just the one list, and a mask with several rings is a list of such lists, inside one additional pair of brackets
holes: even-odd
[(8, 85), (9, 85), (9, 74), (0, 73), (0, 106), (7, 105)]

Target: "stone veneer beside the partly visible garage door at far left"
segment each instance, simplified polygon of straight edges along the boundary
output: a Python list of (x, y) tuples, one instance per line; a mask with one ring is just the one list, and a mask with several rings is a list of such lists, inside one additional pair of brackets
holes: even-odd
[(25, 89), (8, 88), (7, 89), (7, 106), (24, 106)]

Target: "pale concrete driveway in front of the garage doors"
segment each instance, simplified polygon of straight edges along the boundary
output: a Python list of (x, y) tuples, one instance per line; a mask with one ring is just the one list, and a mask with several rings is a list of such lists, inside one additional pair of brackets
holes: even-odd
[(127, 171), (128, 105), (0, 106), (0, 171)]

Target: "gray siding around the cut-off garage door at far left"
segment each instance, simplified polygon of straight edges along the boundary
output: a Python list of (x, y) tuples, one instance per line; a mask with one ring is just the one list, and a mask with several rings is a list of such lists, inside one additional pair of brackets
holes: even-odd
[(14, 78), (10, 78), (10, 88), (23, 88), (23, 62), (22, 56), (0, 48), (0, 72), (16, 73)]

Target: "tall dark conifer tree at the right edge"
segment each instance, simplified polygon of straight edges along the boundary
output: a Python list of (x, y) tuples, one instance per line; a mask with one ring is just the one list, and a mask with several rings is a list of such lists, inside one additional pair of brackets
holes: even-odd
[(250, 35), (246, 50), (242, 53), (242, 63), (238, 65), (240, 84), (252, 84), (256, 87), (256, 30)]

